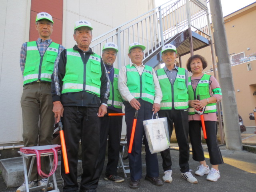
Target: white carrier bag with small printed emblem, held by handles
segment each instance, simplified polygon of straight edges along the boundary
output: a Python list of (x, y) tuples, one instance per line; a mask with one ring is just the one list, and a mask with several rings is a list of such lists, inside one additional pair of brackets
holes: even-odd
[(166, 150), (170, 146), (167, 118), (158, 118), (157, 113), (156, 115), (156, 119), (153, 119), (153, 113), (152, 119), (143, 121), (149, 150), (152, 154)]

